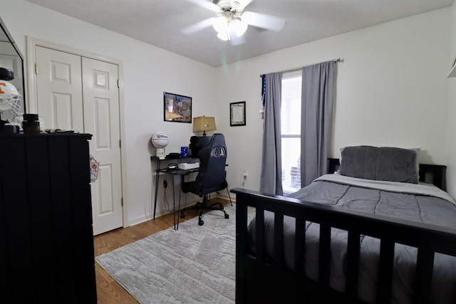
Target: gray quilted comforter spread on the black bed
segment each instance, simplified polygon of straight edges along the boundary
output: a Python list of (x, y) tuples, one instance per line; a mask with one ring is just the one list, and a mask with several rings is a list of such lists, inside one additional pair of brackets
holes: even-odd
[[(370, 181), (331, 174), (316, 179), (290, 197), (456, 229), (455, 201), (446, 192), (429, 184)], [(249, 224), (249, 231), (254, 234), (254, 220)], [(274, 256), (273, 231), (274, 214), (266, 211), (264, 234), (271, 236), (265, 240), (266, 254), (271, 258)], [(306, 276), (313, 280), (318, 278), (318, 236), (318, 224), (306, 223)], [(331, 230), (330, 284), (342, 292), (345, 288), (347, 237), (346, 231)], [(358, 296), (368, 303), (375, 299), (379, 249), (378, 239), (362, 237)], [(293, 254), (294, 218), (285, 216), (284, 256), (288, 268), (294, 268)], [(391, 303), (411, 303), (415, 261), (415, 248), (396, 244)], [(455, 257), (436, 254), (432, 297), (433, 303), (456, 303)]]

